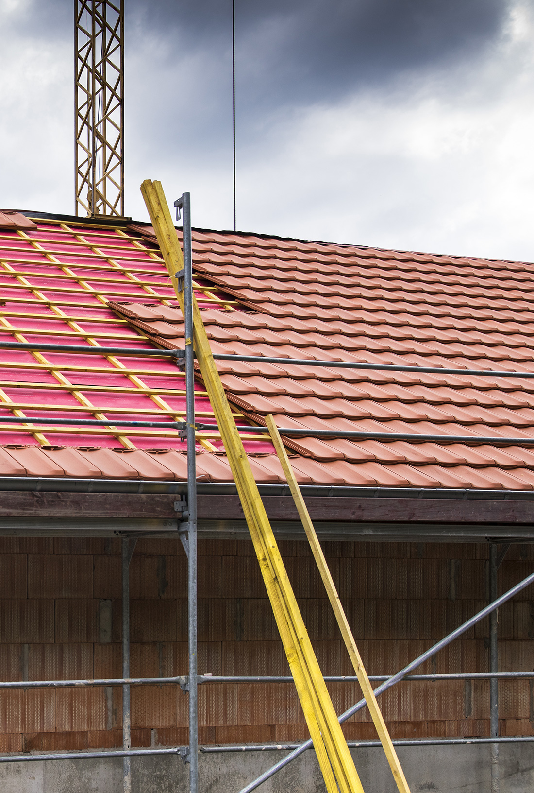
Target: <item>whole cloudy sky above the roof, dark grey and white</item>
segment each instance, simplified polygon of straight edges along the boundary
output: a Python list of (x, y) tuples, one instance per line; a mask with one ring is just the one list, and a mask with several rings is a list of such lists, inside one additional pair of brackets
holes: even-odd
[[(143, 178), (231, 228), (231, 0), (125, 0)], [(237, 224), (534, 260), (534, 0), (235, 0)], [(74, 207), (72, 0), (0, 0), (4, 207)]]

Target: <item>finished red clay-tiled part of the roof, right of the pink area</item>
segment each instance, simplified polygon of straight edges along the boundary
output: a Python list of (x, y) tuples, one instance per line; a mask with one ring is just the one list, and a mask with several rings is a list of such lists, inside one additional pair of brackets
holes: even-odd
[[(155, 242), (150, 227), (133, 228)], [(193, 266), (242, 309), (204, 305), (214, 352), (534, 370), (530, 264), (193, 232)], [(180, 347), (180, 312), (139, 303), (114, 308), (155, 343)], [(286, 439), (316, 483), (532, 489), (534, 450), (445, 439), (531, 437), (532, 380), (217, 363), (232, 404), (257, 423), (273, 413), (280, 427), (444, 435)]]

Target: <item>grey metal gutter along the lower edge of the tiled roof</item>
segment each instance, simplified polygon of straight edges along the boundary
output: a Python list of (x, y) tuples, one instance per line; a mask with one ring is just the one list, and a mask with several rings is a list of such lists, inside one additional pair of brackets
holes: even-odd
[[(236, 496), (233, 482), (197, 481), (199, 495)], [(288, 485), (258, 485), (262, 496), (291, 496)], [(302, 485), (304, 496), (333, 498), (415, 498), (492, 501), (534, 501), (534, 490), (476, 490), (452, 488), (357, 488), (330, 485)], [(20, 492), (101, 492), (185, 494), (185, 481), (150, 479), (77, 479), (75, 477), (0, 477), (0, 491)]]

